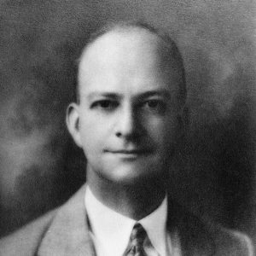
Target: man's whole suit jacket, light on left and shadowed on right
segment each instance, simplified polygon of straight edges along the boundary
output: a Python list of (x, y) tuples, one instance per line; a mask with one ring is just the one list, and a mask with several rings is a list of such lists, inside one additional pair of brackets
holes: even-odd
[[(63, 206), (0, 240), (0, 255), (96, 255), (84, 209), (84, 187)], [(247, 236), (202, 222), (170, 200), (167, 230), (173, 229), (179, 232), (183, 255), (253, 256)]]

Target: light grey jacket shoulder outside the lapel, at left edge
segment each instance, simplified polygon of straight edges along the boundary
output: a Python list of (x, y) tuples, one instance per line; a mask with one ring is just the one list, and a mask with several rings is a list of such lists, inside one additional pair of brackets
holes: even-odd
[[(0, 240), (0, 255), (33, 255), (47, 232), (56, 210), (46, 213)], [(18, 253), (18, 254), (17, 254)]]

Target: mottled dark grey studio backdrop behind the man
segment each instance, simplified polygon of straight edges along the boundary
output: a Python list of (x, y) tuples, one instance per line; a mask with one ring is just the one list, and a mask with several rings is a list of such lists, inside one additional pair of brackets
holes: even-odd
[(189, 131), (173, 197), (256, 242), (254, 1), (0, 1), (0, 236), (61, 204), (85, 181), (67, 135), (73, 61), (107, 20), (148, 20), (182, 52)]

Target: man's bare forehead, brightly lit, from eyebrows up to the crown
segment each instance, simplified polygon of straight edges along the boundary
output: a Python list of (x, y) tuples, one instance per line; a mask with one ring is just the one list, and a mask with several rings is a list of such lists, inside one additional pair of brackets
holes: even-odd
[[(154, 84), (170, 79), (170, 63), (162, 57), (163, 42), (142, 28), (107, 32), (84, 49), (79, 63), (79, 92), (93, 84), (123, 84), (131, 79)], [(173, 73), (172, 73), (173, 79)], [(134, 84), (134, 82), (130, 83)]]

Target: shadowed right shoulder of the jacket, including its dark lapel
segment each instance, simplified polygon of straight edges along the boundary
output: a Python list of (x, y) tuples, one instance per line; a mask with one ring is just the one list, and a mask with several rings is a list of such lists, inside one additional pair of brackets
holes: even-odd
[(168, 222), (169, 230), (177, 227), (181, 249), (185, 255), (254, 255), (253, 244), (248, 236), (226, 229), (206, 218), (199, 218), (173, 201), (169, 207)]

